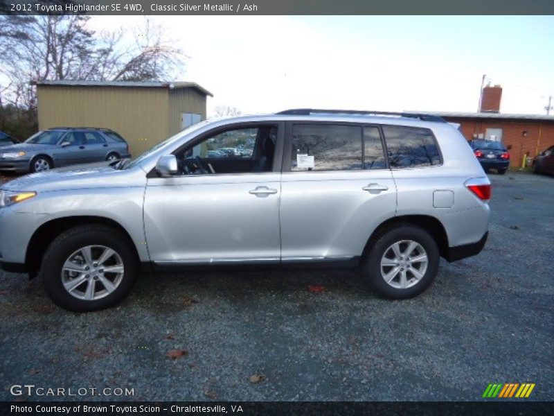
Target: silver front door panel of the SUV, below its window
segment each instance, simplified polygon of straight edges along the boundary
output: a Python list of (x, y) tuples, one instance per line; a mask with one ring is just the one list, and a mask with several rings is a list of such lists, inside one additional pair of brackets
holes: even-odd
[(278, 262), (279, 200), (280, 173), (149, 178), (144, 223), (150, 258)]

